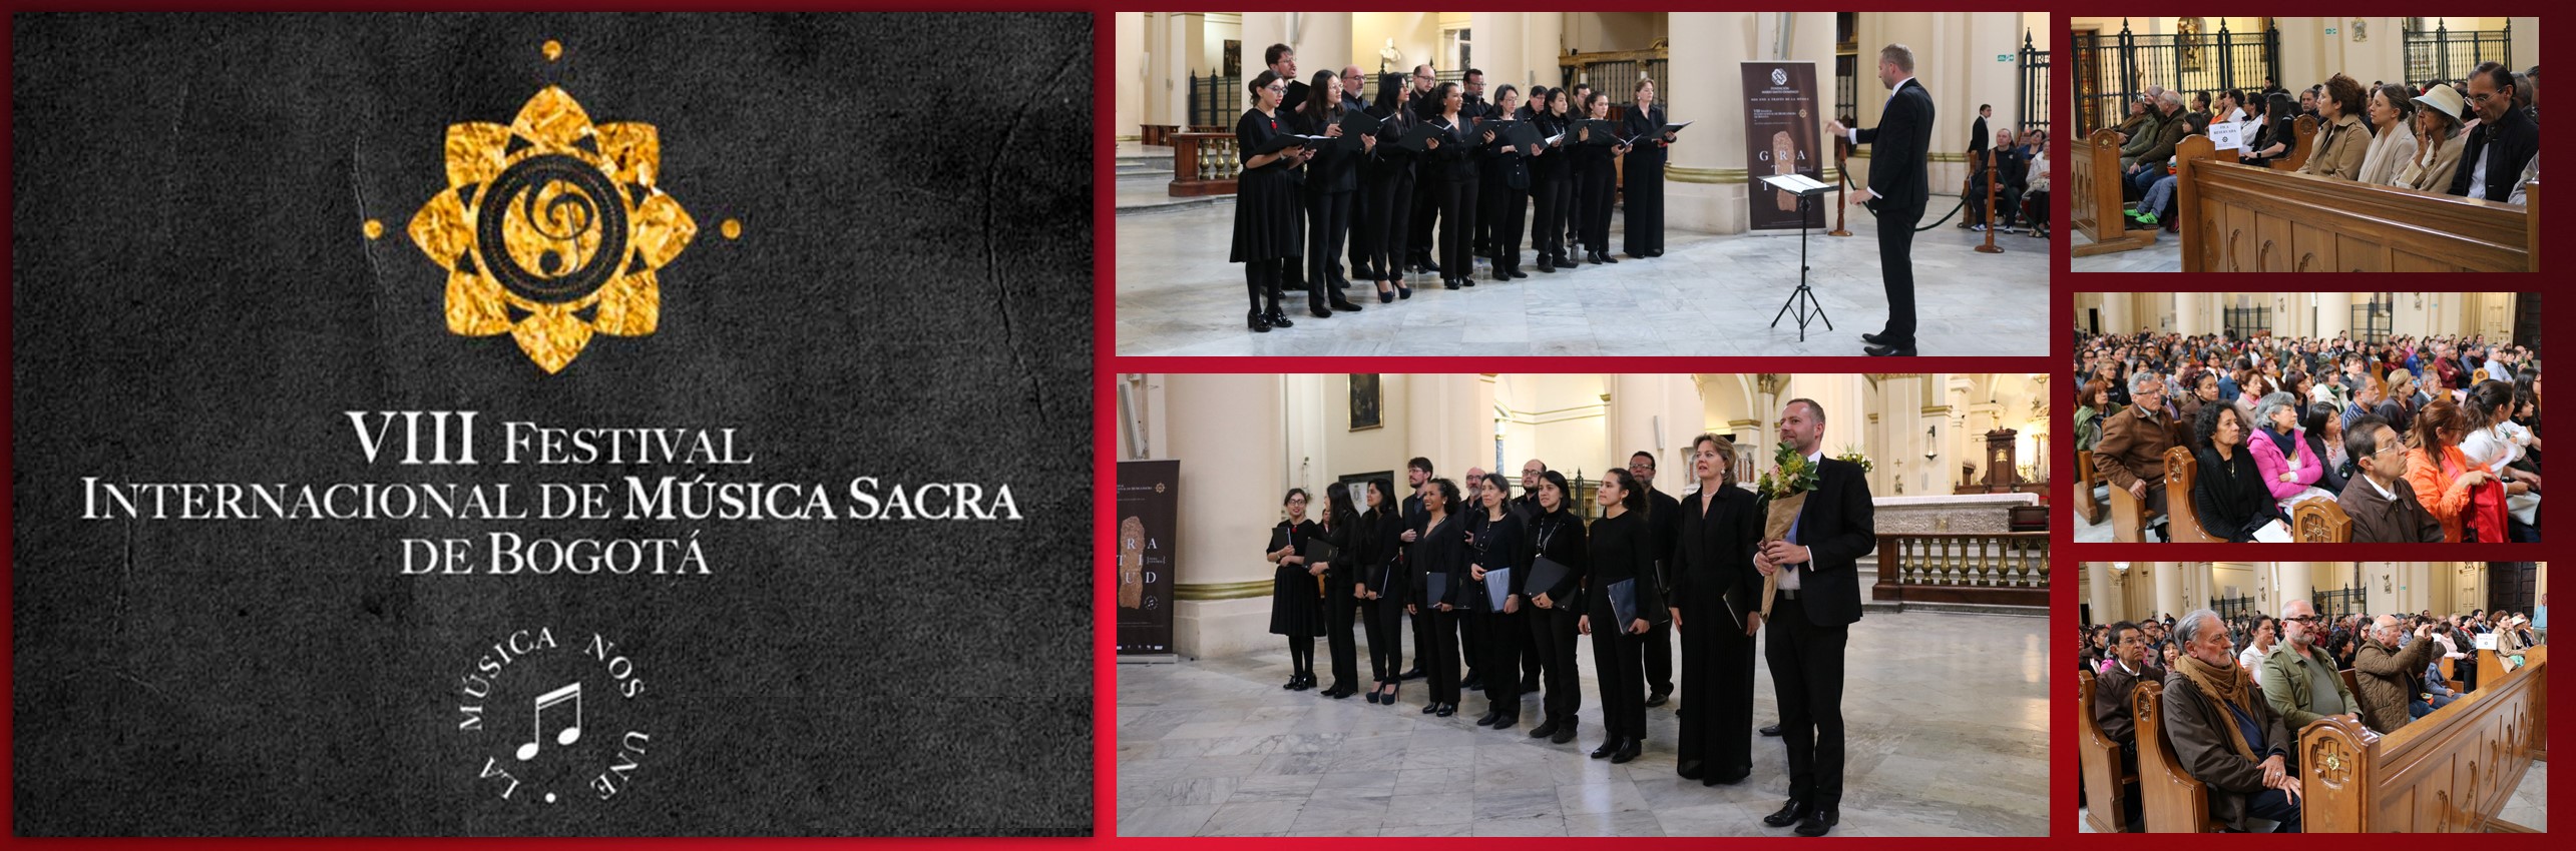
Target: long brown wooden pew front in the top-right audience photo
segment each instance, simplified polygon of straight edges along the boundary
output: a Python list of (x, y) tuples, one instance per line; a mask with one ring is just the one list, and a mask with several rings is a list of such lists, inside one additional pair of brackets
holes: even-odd
[(2184, 136), (2174, 183), (2184, 273), (2532, 273), (2530, 206), (2221, 162)]

